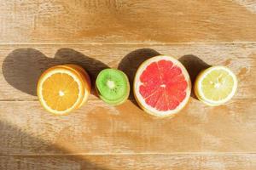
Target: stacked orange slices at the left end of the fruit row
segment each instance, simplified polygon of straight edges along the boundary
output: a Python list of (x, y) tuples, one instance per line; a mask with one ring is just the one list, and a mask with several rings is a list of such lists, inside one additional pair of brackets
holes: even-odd
[(38, 81), (38, 99), (55, 115), (67, 114), (88, 99), (90, 81), (79, 65), (56, 65), (44, 71)]

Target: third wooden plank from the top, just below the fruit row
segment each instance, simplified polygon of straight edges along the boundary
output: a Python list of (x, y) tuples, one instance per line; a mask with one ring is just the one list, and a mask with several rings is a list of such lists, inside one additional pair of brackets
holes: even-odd
[(173, 118), (155, 119), (127, 101), (116, 107), (90, 100), (68, 116), (38, 101), (0, 102), (0, 153), (255, 152), (256, 100), (210, 107), (191, 99)]

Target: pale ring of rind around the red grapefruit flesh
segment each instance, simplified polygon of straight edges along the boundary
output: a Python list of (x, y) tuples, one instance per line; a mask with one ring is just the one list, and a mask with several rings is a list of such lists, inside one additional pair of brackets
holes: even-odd
[[(177, 65), (181, 69), (183, 77), (185, 78), (185, 81), (187, 82), (187, 85), (188, 85), (185, 91), (186, 96), (183, 99), (183, 101), (177, 106), (176, 109), (170, 110), (170, 111), (158, 111), (154, 107), (151, 107), (150, 105), (146, 104), (145, 100), (143, 99), (143, 96), (139, 92), (140, 76), (142, 75), (143, 71), (151, 63), (157, 62), (162, 59), (170, 60), (172, 61), (173, 65)], [(137, 104), (143, 109), (143, 111), (146, 111), (150, 115), (159, 116), (159, 117), (174, 116), (177, 114), (177, 112), (181, 111), (184, 108), (184, 106), (187, 105), (189, 102), (189, 96), (191, 94), (191, 81), (190, 81), (188, 71), (183, 66), (183, 64), (180, 63), (177, 59), (168, 55), (158, 55), (153, 58), (145, 60), (143, 64), (139, 66), (133, 82), (133, 91), (134, 91), (135, 99), (137, 100)]]

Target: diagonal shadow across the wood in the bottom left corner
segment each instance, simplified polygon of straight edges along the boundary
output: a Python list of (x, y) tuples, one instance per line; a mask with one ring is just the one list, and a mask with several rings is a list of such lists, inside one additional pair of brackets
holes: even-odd
[[(1, 169), (79, 169), (107, 170), (96, 165), (84, 155), (69, 153), (59, 146), (27, 134), (7, 122), (0, 122), (0, 165)], [(36, 134), (40, 135), (40, 134)]]

